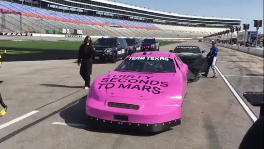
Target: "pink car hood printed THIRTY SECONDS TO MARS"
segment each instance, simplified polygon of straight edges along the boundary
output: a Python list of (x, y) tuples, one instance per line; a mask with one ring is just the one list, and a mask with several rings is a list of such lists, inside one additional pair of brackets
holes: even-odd
[[(111, 71), (93, 82), (93, 87), (100, 90), (106, 96), (123, 97), (131, 99), (152, 99), (167, 92), (175, 92), (173, 86), (177, 73), (133, 73)], [(174, 80), (173, 83), (172, 80)], [(181, 85), (179, 85), (181, 86)], [(180, 89), (181, 87), (179, 87)]]

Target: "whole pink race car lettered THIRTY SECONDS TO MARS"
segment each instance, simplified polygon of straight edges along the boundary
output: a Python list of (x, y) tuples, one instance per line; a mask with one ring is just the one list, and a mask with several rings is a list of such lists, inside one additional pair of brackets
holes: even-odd
[(86, 100), (89, 124), (160, 132), (181, 124), (186, 66), (171, 52), (139, 52), (95, 79)]

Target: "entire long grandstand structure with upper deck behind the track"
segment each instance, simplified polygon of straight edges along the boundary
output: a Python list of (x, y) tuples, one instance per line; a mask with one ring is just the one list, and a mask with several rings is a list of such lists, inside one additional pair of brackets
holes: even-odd
[[(241, 19), (165, 13), (108, 0), (1, 0), (0, 32), (197, 38), (240, 26)], [(235, 35), (235, 34), (234, 34)]]

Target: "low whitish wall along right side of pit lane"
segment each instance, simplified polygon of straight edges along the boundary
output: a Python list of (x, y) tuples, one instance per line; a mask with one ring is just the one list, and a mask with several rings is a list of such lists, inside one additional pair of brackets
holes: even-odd
[[(211, 42), (207, 42), (207, 43), (211, 43)], [(252, 54), (252, 55), (256, 55), (256, 56), (261, 56), (261, 57), (264, 56), (264, 50), (263, 49), (242, 47), (242, 46), (236, 46), (236, 45), (228, 45), (228, 44), (222, 44), (222, 43), (217, 43), (217, 46), (225, 47), (225, 48), (228, 48), (228, 49), (242, 51), (242, 52), (245, 52), (245, 53), (248, 53), (248, 54)]]

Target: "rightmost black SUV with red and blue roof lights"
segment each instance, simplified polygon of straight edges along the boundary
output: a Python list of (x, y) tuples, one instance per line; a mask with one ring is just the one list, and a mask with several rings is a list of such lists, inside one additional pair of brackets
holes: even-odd
[(159, 42), (155, 38), (145, 38), (141, 42), (141, 51), (159, 51)]

